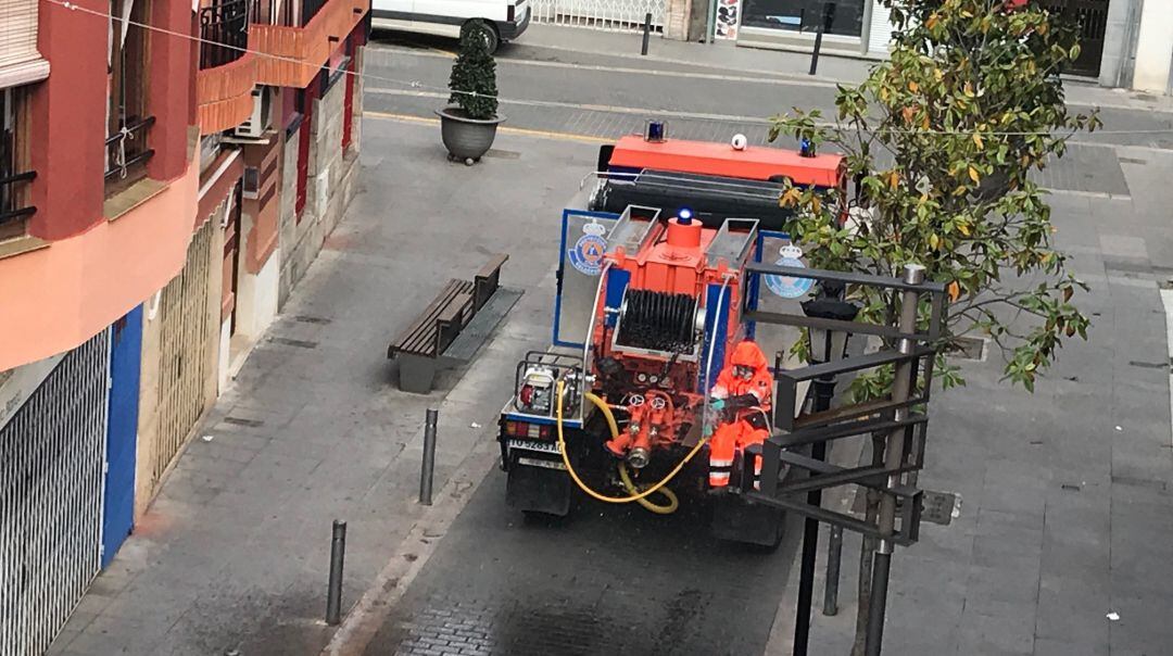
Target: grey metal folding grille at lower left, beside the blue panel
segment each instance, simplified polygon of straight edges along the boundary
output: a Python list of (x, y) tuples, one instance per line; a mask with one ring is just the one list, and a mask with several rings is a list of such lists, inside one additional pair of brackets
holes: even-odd
[(109, 332), (0, 428), (0, 654), (43, 654), (100, 566)]

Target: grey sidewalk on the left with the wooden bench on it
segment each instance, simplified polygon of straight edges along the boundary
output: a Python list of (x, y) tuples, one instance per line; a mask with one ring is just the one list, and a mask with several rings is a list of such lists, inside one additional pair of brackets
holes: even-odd
[[(53, 654), (320, 651), (331, 521), (348, 521), (345, 613), (421, 516), (425, 410), (441, 413), (436, 491), (495, 430), (513, 363), (549, 330), (536, 290), (552, 286), (556, 218), (595, 149), (501, 136), (467, 168), (430, 127), (362, 134), (362, 191)], [(527, 292), (508, 323), (472, 370), (399, 392), (387, 341), (495, 252)]]

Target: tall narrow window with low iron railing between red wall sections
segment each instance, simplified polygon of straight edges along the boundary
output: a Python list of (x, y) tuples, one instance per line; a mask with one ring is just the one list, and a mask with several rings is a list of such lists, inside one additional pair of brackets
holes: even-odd
[(116, 191), (142, 178), (154, 155), (148, 133), (155, 123), (147, 115), (147, 41), (149, 0), (110, 0), (109, 75), (107, 89), (106, 181)]

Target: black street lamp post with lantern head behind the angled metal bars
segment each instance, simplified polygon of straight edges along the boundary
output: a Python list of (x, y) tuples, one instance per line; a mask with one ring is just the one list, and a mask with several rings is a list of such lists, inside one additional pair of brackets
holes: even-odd
[[(819, 296), (802, 303), (802, 313), (816, 319), (836, 319), (852, 322), (860, 311), (859, 306), (843, 300), (843, 285), (823, 282)], [(820, 327), (807, 329), (809, 337), (808, 359), (811, 364), (841, 360), (847, 356), (847, 340), (850, 333)], [(835, 377), (821, 376), (814, 380), (814, 412), (830, 410), (835, 395)], [(811, 447), (811, 458), (826, 460), (827, 442), (818, 441)], [(822, 489), (815, 488), (807, 493), (807, 503), (818, 507), (822, 503)], [(802, 528), (802, 562), (799, 574), (799, 600), (794, 622), (794, 656), (806, 656), (811, 637), (811, 600), (814, 596), (814, 563), (819, 548), (819, 520), (807, 516)]]

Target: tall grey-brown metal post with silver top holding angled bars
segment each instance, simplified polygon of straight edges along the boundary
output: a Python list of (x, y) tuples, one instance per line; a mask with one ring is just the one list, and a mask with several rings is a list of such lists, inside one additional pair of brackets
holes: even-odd
[[(918, 285), (924, 282), (924, 266), (920, 264), (904, 265), (904, 282), (910, 285)], [(920, 292), (908, 290), (900, 300), (900, 331), (911, 333), (916, 331), (916, 309)], [(901, 339), (897, 344), (901, 353), (913, 352), (913, 340)], [(904, 360), (896, 365), (895, 377), (891, 384), (891, 400), (907, 401), (911, 393), (914, 363)], [(896, 420), (908, 419), (908, 408), (896, 411)], [(884, 467), (897, 469), (904, 458), (904, 428), (896, 428), (888, 434), (884, 446)], [(872, 603), (868, 614), (868, 633), (865, 654), (867, 656), (880, 656), (880, 647), (883, 642), (884, 611), (888, 603), (888, 573), (891, 569), (891, 536), (896, 530), (896, 496), (890, 492), (900, 485), (900, 474), (888, 476), (887, 489), (880, 498), (880, 543), (876, 548), (875, 560), (872, 563)], [(907, 528), (907, 527), (906, 527)]]

